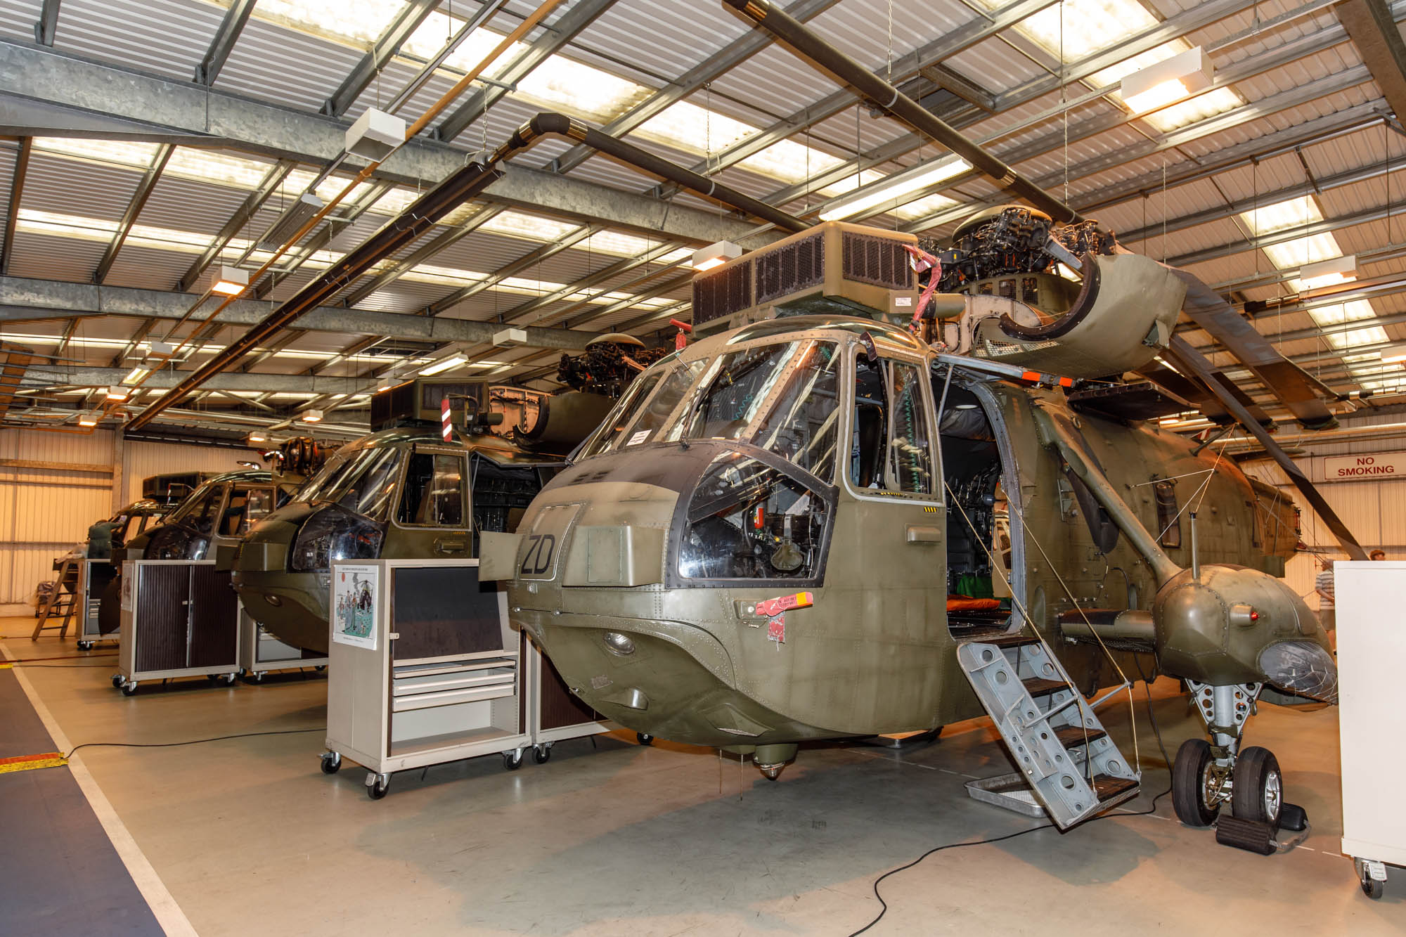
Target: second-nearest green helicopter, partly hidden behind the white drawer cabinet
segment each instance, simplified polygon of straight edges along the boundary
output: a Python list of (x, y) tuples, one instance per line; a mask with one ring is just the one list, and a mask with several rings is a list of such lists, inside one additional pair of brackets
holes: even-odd
[[(280, 640), (326, 653), (332, 563), (477, 556), (481, 533), (515, 530), (561, 453), (610, 405), (599, 394), (461, 378), (380, 390), (373, 432), (337, 450), (217, 566), (233, 571), (245, 609)], [(505, 412), (516, 419), (496, 435)]]

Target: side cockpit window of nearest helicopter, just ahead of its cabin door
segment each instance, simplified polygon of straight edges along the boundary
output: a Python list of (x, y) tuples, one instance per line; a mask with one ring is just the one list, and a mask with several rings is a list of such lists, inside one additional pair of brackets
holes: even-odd
[(932, 439), (918, 366), (855, 359), (849, 481), (856, 488), (932, 494)]

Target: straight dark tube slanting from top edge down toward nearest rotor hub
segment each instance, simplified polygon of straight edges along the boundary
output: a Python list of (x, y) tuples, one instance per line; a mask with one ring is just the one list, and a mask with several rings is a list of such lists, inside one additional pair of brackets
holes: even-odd
[(965, 136), (959, 129), (936, 117), (921, 104), (905, 96), (889, 82), (855, 62), (852, 58), (811, 32), (799, 20), (776, 8), (769, 0), (723, 0), (745, 20), (762, 27), (776, 41), (801, 56), (821, 72), (830, 73), (837, 82), (851, 89), (866, 101), (882, 110), (915, 134), (927, 136), (939, 146), (972, 163), (972, 166), (997, 184), (1035, 205), (1056, 221), (1083, 221), (1080, 214), (1063, 201), (1021, 176), (1004, 162), (988, 153), (980, 144)]

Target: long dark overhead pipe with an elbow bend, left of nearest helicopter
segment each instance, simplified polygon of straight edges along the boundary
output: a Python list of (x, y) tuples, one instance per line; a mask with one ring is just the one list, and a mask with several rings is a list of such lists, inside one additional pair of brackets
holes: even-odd
[(411, 242), (425, 234), (436, 221), (457, 208), (465, 200), (481, 194), (488, 186), (502, 177), (503, 172), (496, 169), (512, 156), (534, 146), (548, 135), (565, 136), (578, 144), (583, 144), (623, 163), (641, 169), (652, 176), (659, 176), (678, 183), (704, 198), (731, 205), (755, 218), (761, 218), (778, 228), (790, 232), (800, 232), (810, 228), (808, 224), (796, 215), (773, 208), (763, 201), (752, 198), (735, 189), (723, 186), (707, 176), (700, 176), (692, 170), (661, 159), (648, 151), (633, 144), (602, 134), (586, 127), (581, 121), (565, 114), (543, 111), (519, 127), (508, 141), (499, 146), (486, 163), (468, 163), (449, 179), (427, 191), (399, 217), (388, 221), (380, 231), (367, 238), (340, 260), (314, 277), (298, 293), (278, 305), (263, 321), (250, 326), (247, 332), (226, 345), (218, 355), (205, 364), (195, 369), (190, 377), (166, 391), (160, 400), (153, 401), (128, 423), (129, 429), (141, 429), (149, 423), (163, 409), (180, 402), (183, 397), (204, 384), (212, 376), (229, 369), (256, 345), (271, 338), (280, 329), (291, 325), (304, 312), (308, 312), (343, 290), (349, 283), (370, 270), (385, 257), (395, 255)]

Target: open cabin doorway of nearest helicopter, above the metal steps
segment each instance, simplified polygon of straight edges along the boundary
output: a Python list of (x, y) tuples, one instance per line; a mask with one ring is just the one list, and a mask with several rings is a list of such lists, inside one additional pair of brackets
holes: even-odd
[(976, 637), (1007, 630), (1017, 573), (1005, 464), (983, 401), (955, 383), (938, 422), (946, 483), (948, 630)]

